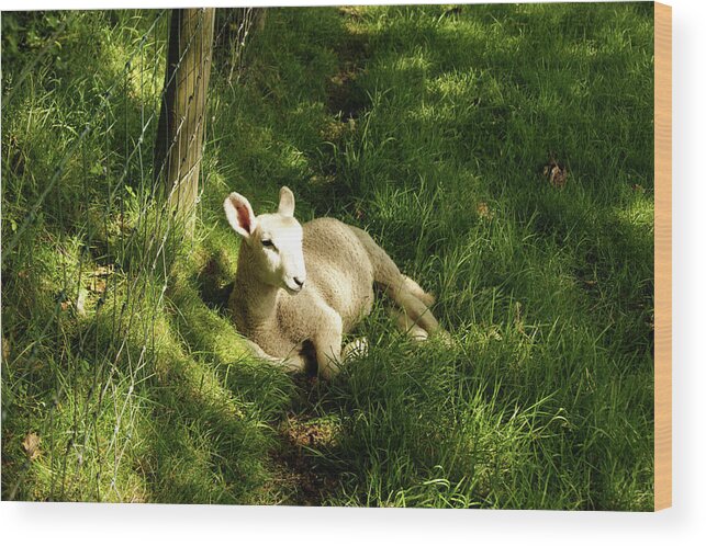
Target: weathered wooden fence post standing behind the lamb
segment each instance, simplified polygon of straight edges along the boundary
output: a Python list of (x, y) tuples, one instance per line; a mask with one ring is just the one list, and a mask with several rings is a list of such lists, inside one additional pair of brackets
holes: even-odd
[(206, 123), (215, 9), (171, 11), (165, 91), (155, 144), (155, 183), (193, 235)]

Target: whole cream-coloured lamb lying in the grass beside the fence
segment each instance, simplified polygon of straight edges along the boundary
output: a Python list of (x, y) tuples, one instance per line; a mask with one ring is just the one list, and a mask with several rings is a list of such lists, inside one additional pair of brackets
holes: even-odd
[(259, 357), (300, 371), (313, 345), (318, 374), (330, 378), (348, 356), (367, 350), (365, 339), (341, 350), (341, 339), (370, 314), (373, 283), (401, 308), (397, 325), (415, 340), (446, 335), (429, 310), (434, 297), (362, 229), (334, 218), (300, 225), (287, 186), (274, 214), (256, 217), (236, 192), (224, 208), (243, 238), (228, 308)]

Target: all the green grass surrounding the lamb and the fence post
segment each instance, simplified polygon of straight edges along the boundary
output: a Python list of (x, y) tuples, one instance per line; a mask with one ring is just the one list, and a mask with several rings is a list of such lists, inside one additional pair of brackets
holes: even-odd
[[(237, 83), (215, 57), (193, 241), (138, 143), (166, 16), (76, 18), (3, 104), (3, 499), (652, 509), (651, 4), (268, 10)], [(3, 89), (41, 43), (3, 42)], [(381, 299), (334, 382), (249, 357), (222, 201), (283, 184), (368, 229), (456, 345)]]

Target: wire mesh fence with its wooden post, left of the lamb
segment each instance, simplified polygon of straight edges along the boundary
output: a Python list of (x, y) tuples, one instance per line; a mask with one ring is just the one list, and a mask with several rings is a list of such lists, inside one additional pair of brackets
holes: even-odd
[[(210, 65), (237, 83), (262, 16), (250, 8), (3, 14), (3, 499), (131, 500), (119, 468), (138, 448), (139, 386), (160, 373), (159, 315), (191, 244)], [(51, 33), (35, 33), (42, 46), (5, 42), (19, 34), (13, 24), (27, 35), (41, 18), (56, 19)], [(131, 44), (121, 67), (101, 66), (94, 50), (61, 59), (61, 44), (97, 30), (97, 48)], [(130, 37), (108, 39), (116, 32)], [(85, 78), (67, 90), (81, 64)], [(36, 470), (41, 451), (48, 460)], [(45, 471), (48, 487), (32, 491), (30, 471)]]

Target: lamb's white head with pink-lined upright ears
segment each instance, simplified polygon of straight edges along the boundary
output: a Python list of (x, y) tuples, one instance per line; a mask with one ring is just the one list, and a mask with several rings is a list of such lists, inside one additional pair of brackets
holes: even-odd
[(258, 280), (298, 294), (306, 281), (302, 226), (294, 218), (294, 194), (280, 190), (277, 213), (255, 216), (247, 198), (233, 192), (223, 204), (228, 223), (250, 249)]

